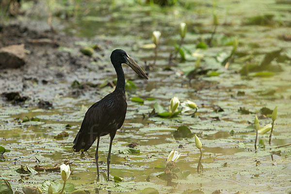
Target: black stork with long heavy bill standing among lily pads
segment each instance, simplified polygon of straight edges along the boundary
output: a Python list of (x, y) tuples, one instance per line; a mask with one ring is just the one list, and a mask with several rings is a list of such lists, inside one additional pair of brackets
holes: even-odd
[(87, 151), (97, 139), (95, 160), (97, 166), (97, 177), (99, 178), (98, 146), (101, 136), (110, 135), (110, 146), (107, 157), (107, 179), (109, 180), (109, 167), (111, 147), (117, 129), (123, 125), (127, 102), (125, 97), (125, 77), (122, 64), (129, 65), (139, 76), (147, 78), (146, 73), (139, 65), (122, 49), (115, 49), (110, 56), (111, 63), (117, 74), (117, 84), (114, 91), (93, 104), (85, 114), (81, 128), (73, 142), (73, 149), (79, 152), (81, 149)]

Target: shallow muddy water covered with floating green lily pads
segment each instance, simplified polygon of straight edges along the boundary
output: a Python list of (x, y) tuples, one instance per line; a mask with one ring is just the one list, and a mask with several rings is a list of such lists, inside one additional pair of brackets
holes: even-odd
[[(76, 41), (75, 45), (101, 45), (102, 51), (93, 55), (99, 60), (88, 60), (86, 68), (77, 69), (73, 76), (66, 76), (61, 81), (35, 84), (33, 93), (22, 91), (22, 94), (31, 94), (32, 97), (24, 104), (14, 105), (1, 99), (0, 146), (11, 151), (0, 157), (0, 178), (9, 180), (14, 191), (20, 191), (23, 186), (41, 188), (44, 180), (61, 182), (60, 173), (21, 175), (16, 169), (20, 165), (33, 168), (37, 164), (52, 167), (69, 160), (72, 174), (68, 182), (73, 183), (75, 189), (89, 193), (138, 194), (147, 187), (157, 189), (160, 194), (211, 194), (215, 190), (221, 190), (223, 194), (291, 192), (291, 146), (276, 148), (291, 143), (291, 41), (281, 38), (291, 35), (291, 4), (271, 0), (190, 0), (188, 4), (161, 9), (130, 0), (126, 4), (105, 2), (84, 3), (76, 18), (61, 21), (65, 23), (66, 33), (88, 38)], [(85, 16), (81, 14), (83, 12)], [(196, 50), (199, 42), (211, 36), (214, 28), (212, 12), (216, 12), (219, 18), (213, 47)], [(264, 14), (274, 17), (267, 21), (253, 18)], [(182, 21), (188, 25), (183, 45), (186, 60), (182, 61), (178, 56), (177, 62), (169, 65), (168, 56), (179, 41), (178, 25)], [(115, 72), (109, 56), (115, 48), (126, 50), (146, 68), (145, 61), (150, 64), (154, 56), (153, 49), (146, 47), (151, 43), (154, 30), (161, 31), (162, 37), (156, 65), (147, 70), (149, 80), (137, 78), (129, 67), (124, 66), (126, 79), (133, 80), (136, 89), (127, 90), (128, 112), (113, 141), (110, 171), (111, 178), (118, 176), (124, 180), (106, 181), (110, 139), (105, 136), (101, 137), (99, 145), (101, 177), (97, 181), (96, 144), (81, 154), (73, 152), (72, 142), (88, 107), (112, 92), (113, 88), (90, 88), (83, 90), (78, 97), (67, 91), (75, 90), (71, 83), (76, 79), (99, 85), (105, 80), (113, 80)], [(237, 37), (239, 46), (233, 62), (225, 69), (218, 62), (217, 54), (230, 53), (234, 37)], [(266, 56), (280, 49), (273, 60), (263, 64)], [(75, 48), (61, 45), (58, 50), (81, 56)], [(194, 69), (197, 57), (192, 53), (195, 51), (204, 55), (200, 68), (218, 74), (197, 75), (190, 85), (184, 73), (187, 69)], [(259, 69), (252, 71), (249, 68), (247, 75), (241, 73), (243, 66), (258, 64), (261, 65)], [(258, 73), (267, 71), (267, 74)], [(35, 106), (35, 93), (52, 102), (53, 108), (47, 110)], [(141, 97), (145, 101), (140, 104), (130, 101), (131, 97)], [(147, 100), (149, 97), (154, 99)], [(149, 117), (156, 102), (168, 109), (172, 97), (178, 97), (181, 102), (194, 101), (198, 106), (197, 113), (193, 117), (189, 113), (180, 113), (170, 119)], [(278, 117), (272, 146), (268, 144), (269, 133), (260, 134), (259, 140), (265, 141), (265, 148), (259, 147), (255, 152), (254, 118), (258, 116), (261, 127), (272, 123), (272, 112), (265, 114), (260, 110), (263, 107), (273, 110), (275, 106), (278, 107)], [(250, 113), (242, 113), (240, 108)], [(26, 116), (39, 118), (39, 121), (22, 122)], [(174, 131), (180, 126), (189, 127), (200, 138), (204, 172), (196, 171), (200, 151), (195, 146), (194, 137), (174, 137)], [(66, 131), (68, 137), (54, 138), (62, 131)], [(138, 144), (135, 148), (140, 153), (124, 154), (132, 142)], [(178, 150), (181, 156), (176, 162), (178, 179), (170, 182), (160, 175), (172, 149)]]

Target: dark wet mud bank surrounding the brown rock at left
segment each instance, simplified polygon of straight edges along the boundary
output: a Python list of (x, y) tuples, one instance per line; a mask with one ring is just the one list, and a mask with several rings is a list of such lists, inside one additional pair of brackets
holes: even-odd
[(0, 93), (19, 92), (21, 96), (30, 97), (34, 104), (39, 98), (50, 100), (55, 95), (80, 94), (70, 87), (74, 80), (96, 82), (94, 77), (86, 75), (89, 71), (103, 73), (104, 66), (92, 65), (101, 60), (98, 56), (103, 55), (102, 50), (97, 49), (92, 57), (83, 55), (79, 51), (82, 46), (75, 43), (87, 42), (86, 38), (51, 32), (46, 23), (39, 24), (40, 27), (35, 28), (28, 22), (10, 22), (0, 27), (0, 48), (24, 44), (26, 54), (24, 66), (0, 70)]

